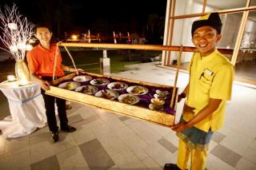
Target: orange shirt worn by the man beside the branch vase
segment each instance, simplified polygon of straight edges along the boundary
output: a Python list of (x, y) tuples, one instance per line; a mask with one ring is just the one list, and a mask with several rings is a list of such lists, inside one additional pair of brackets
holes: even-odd
[[(29, 51), (26, 54), (26, 60), (30, 71), (36, 73), (39, 77), (53, 77), (56, 48), (56, 45), (51, 45), (49, 50), (39, 44)], [(57, 53), (55, 77), (62, 77), (64, 76), (64, 71), (61, 67), (62, 55), (59, 49), (57, 49)]]

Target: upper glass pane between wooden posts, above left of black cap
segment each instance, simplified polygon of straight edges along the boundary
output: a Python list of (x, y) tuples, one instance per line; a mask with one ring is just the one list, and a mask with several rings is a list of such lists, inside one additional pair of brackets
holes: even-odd
[(203, 0), (178, 0), (175, 3), (175, 16), (202, 13)]

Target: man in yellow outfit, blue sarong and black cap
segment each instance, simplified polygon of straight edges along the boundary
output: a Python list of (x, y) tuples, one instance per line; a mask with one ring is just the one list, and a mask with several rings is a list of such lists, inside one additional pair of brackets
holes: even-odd
[(204, 170), (207, 149), (214, 131), (222, 128), (226, 101), (231, 98), (234, 67), (216, 49), (222, 38), (218, 13), (202, 16), (193, 22), (192, 42), (198, 49), (190, 62), (190, 81), (181, 97), (186, 97), (182, 118), (171, 128), (179, 137), (176, 164), (164, 169)]

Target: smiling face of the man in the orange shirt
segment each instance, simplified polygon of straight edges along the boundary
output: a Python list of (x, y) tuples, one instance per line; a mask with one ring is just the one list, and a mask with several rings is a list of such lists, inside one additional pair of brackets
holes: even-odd
[(42, 45), (50, 45), (50, 38), (52, 33), (46, 27), (38, 27), (35, 37), (38, 38), (40, 44)]

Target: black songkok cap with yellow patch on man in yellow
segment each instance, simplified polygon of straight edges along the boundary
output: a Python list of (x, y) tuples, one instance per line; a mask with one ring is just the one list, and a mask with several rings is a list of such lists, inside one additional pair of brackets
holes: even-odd
[(219, 18), (218, 13), (206, 14), (198, 20), (194, 21), (191, 30), (192, 37), (194, 31), (202, 26), (212, 26), (215, 30), (217, 30), (218, 34), (221, 34), (222, 32), (222, 21)]

